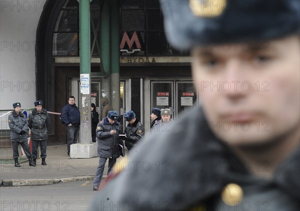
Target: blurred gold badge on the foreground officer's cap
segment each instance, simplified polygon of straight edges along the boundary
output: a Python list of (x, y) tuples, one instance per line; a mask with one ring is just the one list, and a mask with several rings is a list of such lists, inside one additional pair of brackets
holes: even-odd
[(189, 7), (195, 16), (215, 17), (226, 7), (226, 0), (189, 0)]

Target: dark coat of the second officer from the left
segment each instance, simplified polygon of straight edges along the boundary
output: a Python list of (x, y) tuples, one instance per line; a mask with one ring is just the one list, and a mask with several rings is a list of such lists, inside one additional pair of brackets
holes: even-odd
[(42, 108), (40, 113), (36, 109), (33, 109), (28, 115), (28, 125), (31, 129), (32, 140), (48, 139), (50, 119), (46, 109)]

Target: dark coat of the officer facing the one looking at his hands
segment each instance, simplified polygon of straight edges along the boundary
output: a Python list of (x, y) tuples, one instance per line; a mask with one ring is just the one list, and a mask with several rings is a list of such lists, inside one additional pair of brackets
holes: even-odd
[(144, 127), (140, 123), (140, 121), (136, 118), (136, 120), (133, 122), (133, 124), (127, 124), (124, 132), (126, 133), (125, 138), (125, 146), (128, 149), (131, 149), (139, 139), (142, 138), (144, 135)]

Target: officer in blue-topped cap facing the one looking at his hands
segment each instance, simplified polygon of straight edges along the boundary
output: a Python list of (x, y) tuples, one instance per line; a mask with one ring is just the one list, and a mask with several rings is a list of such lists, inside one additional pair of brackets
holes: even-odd
[(145, 129), (132, 110), (125, 112), (123, 117), (128, 121), (128, 124), (124, 130), (126, 136), (122, 136), (122, 139), (125, 140), (125, 146), (129, 152), (138, 140), (143, 137)]

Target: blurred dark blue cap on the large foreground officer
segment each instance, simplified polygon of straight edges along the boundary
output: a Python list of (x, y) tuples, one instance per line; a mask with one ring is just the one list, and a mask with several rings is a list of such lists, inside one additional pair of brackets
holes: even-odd
[(166, 37), (188, 49), (297, 34), (299, 0), (160, 0)]

